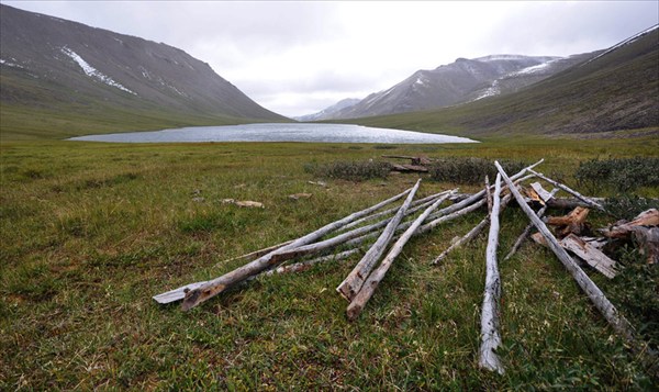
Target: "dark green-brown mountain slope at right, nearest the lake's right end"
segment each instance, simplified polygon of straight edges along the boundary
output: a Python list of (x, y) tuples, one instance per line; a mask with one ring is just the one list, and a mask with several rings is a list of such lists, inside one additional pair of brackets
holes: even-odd
[(350, 122), (472, 137), (604, 136), (626, 130), (659, 134), (659, 29), (650, 27), (514, 93)]

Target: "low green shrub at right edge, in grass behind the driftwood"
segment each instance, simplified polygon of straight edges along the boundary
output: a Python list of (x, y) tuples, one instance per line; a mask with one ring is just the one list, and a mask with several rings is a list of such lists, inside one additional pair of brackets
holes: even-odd
[(574, 178), (595, 192), (612, 187), (618, 192), (659, 186), (659, 158), (591, 159), (579, 164)]

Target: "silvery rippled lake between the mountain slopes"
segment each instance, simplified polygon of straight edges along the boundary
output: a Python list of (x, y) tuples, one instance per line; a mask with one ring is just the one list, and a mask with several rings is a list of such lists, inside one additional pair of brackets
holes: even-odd
[(130, 132), (71, 137), (69, 141), (109, 143), (308, 142), (435, 144), (478, 143), (439, 134), (375, 128), (347, 124), (245, 124), (193, 126), (153, 132)]

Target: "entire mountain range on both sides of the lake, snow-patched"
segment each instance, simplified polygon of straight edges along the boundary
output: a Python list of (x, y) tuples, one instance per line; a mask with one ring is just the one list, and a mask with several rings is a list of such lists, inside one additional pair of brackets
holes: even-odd
[[(181, 49), (0, 4), (0, 137), (292, 121)], [(458, 58), (300, 121), (471, 136), (659, 126), (659, 31), (573, 55)]]

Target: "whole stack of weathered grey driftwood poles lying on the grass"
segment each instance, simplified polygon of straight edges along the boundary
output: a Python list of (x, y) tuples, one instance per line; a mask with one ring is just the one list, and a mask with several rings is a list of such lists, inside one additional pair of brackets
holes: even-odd
[[(499, 335), (499, 298), (501, 278), (498, 269), (499, 215), (515, 199), (517, 205), (526, 213), (530, 224), (518, 237), (507, 254), (510, 258), (521, 246), (535, 226), (538, 231), (533, 237), (536, 242), (549, 247), (565, 265), (580, 288), (591, 299), (613, 328), (627, 340), (632, 347), (640, 347), (633, 335), (633, 328), (624, 316), (618, 314), (604, 293), (583, 272), (582, 265), (589, 265), (608, 278), (617, 273), (616, 262), (610, 259), (602, 249), (612, 242), (635, 237), (640, 240), (648, 262), (657, 262), (659, 237), (659, 212), (649, 210), (633, 222), (618, 222), (603, 229), (601, 238), (583, 237), (587, 227), (585, 217), (590, 209), (604, 211), (602, 201), (587, 198), (579, 192), (545, 177), (534, 170), (543, 160), (522, 169), (509, 177), (495, 163), (499, 175), (493, 186), (485, 179), (485, 187), (472, 194), (459, 193), (457, 189), (447, 190), (426, 198), (415, 200), (421, 179), (414, 187), (366, 210), (355, 212), (342, 220), (332, 222), (300, 238), (278, 244), (265, 249), (238, 257), (247, 262), (219, 278), (209, 281), (190, 283), (181, 288), (158, 294), (154, 299), (159, 303), (182, 300), (182, 310), (188, 311), (226, 290), (256, 278), (259, 275), (301, 271), (313, 265), (327, 260), (346, 259), (364, 251), (355, 268), (337, 287), (337, 292), (345, 298), (347, 317), (358, 317), (369, 299), (373, 295), (386, 273), (389, 271), (405, 244), (415, 235), (432, 232), (438, 225), (463, 216), (470, 212), (487, 208), (489, 214), (463, 237), (454, 242), (432, 264), (438, 264), (455, 248), (473, 239), (489, 226), (488, 247), (485, 250), (485, 289), (481, 313), (481, 349), (479, 363), (490, 370), (503, 372), (503, 366), (494, 352), (501, 344)], [(414, 164), (414, 161), (413, 161)], [(416, 164), (422, 164), (421, 160)], [(554, 187), (546, 191), (539, 182), (522, 188), (521, 184), (532, 178), (541, 179)], [(526, 197), (523, 197), (521, 190)], [(570, 193), (571, 199), (556, 198), (562, 190)], [(404, 198), (396, 208), (384, 209)], [(450, 203), (443, 206), (445, 203)], [(539, 204), (535, 212), (530, 205)], [(443, 208), (440, 208), (443, 206)], [(559, 206), (573, 209), (566, 216), (550, 217), (549, 225), (556, 227), (556, 235), (549, 231), (540, 219), (547, 208)], [(420, 214), (416, 214), (421, 212)], [(573, 254), (576, 257), (570, 256)], [(235, 260), (235, 259), (232, 259)]]

